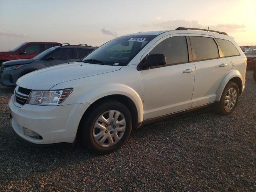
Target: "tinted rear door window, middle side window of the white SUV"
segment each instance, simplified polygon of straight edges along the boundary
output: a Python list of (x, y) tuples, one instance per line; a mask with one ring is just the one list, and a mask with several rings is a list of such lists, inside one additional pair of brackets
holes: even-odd
[(216, 42), (210, 37), (191, 36), (196, 52), (196, 60), (206, 60), (219, 57)]

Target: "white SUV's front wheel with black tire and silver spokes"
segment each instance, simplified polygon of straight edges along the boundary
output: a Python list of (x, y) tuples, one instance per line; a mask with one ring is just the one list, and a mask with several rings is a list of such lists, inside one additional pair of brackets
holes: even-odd
[(130, 136), (132, 116), (124, 104), (98, 104), (80, 124), (80, 143), (95, 154), (118, 150)]

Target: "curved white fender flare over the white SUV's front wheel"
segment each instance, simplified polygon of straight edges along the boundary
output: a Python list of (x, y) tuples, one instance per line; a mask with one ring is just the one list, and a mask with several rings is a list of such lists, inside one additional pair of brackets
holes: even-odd
[(105, 96), (110, 95), (123, 95), (130, 98), (138, 112), (138, 122), (143, 121), (143, 103), (139, 96), (139, 94), (130, 86), (124, 85), (124, 84), (108, 84), (108, 85), (102, 85), (97, 86), (95, 88), (92, 88), (91, 90), (86, 91), (84, 94), (82, 94), (77, 102), (78, 103), (90, 103), (93, 104), (95, 101), (97, 101), (100, 98), (103, 98)]

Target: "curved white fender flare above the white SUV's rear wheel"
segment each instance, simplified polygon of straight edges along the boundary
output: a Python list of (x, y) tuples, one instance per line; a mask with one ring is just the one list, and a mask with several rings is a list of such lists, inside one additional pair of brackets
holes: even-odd
[(224, 77), (224, 79), (222, 80), (222, 82), (221, 82), (221, 84), (220, 84), (220, 86), (218, 88), (217, 96), (216, 96), (216, 101), (220, 100), (220, 97), (222, 95), (222, 92), (223, 92), (226, 84), (230, 81), (230, 79), (232, 79), (234, 77), (240, 78), (240, 80), (242, 81), (242, 86), (244, 86), (244, 81), (243, 81), (241, 73), (238, 70), (230, 70), (228, 72), (228, 74), (226, 74), (226, 76)]

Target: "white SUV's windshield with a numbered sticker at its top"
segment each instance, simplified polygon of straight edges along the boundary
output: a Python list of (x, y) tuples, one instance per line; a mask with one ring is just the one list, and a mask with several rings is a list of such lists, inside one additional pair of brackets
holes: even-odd
[(102, 65), (127, 65), (156, 35), (131, 35), (115, 38), (82, 59)]

